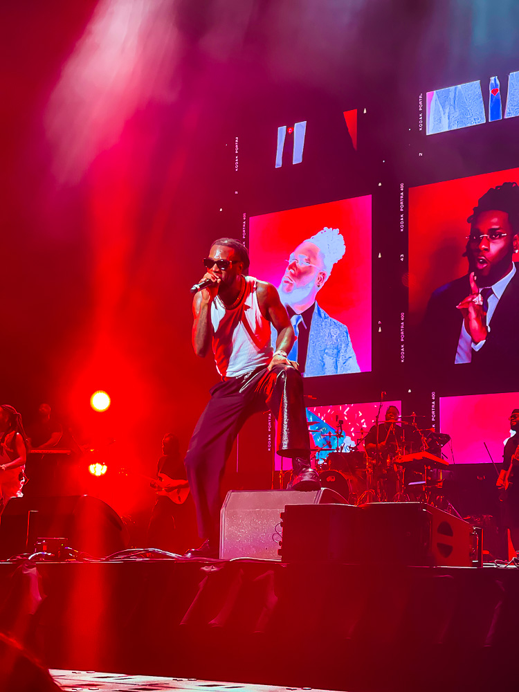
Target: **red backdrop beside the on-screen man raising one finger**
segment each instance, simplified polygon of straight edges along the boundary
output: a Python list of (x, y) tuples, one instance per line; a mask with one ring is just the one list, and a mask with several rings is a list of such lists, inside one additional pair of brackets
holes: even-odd
[(409, 188), (409, 318), (420, 322), (432, 291), (467, 271), (466, 219), (482, 194), (519, 181), (519, 168)]

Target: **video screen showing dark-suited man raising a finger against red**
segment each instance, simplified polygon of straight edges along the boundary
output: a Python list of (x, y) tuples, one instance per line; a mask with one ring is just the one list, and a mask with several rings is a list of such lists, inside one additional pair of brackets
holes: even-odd
[(489, 372), (513, 367), (516, 181), (518, 168), (410, 188), (409, 319), (417, 361), (475, 363)]

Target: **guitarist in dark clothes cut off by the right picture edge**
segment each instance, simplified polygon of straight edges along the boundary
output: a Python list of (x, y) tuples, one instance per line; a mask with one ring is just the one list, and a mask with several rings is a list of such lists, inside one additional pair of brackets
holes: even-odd
[(510, 416), (513, 435), (504, 445), (503, 466), (496, 485), (502, 492), (503, 526), (510, 529), (514, 550), (519, 550), (519, 408)]

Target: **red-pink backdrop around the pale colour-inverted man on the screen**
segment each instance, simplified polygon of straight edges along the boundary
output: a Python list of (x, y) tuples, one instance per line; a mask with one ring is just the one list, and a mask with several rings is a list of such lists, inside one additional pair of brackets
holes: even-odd
[(284, 274), (285, 260), (303, 240), (325, 226), (340, 230), (346, 252), (334, 265), (317, 300), (330, 317), (347, 326), (361, 372), (369, 372), (372, 361), (371, 224), (370, 194), (249, 220), (251, 274), (276, 287)]

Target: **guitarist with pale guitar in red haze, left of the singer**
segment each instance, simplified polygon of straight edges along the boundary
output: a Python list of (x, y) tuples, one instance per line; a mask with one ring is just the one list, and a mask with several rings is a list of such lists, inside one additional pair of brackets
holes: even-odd
[[(179, 450), (179, 438), (172, 432), (168, 432), (163, 438), (162, 456), (157, 464), (157, 481), (151, 485), (156, 491), (165, 490), (172, 494), (177, 489), (189, 490)], [(167, 495), (157, 495), (149, 520), (147, 545), (174, 553), (185, 552), (196, 533), (194, 520), (194, 505), (190, 494), (181, 504), (176, 504)]]

